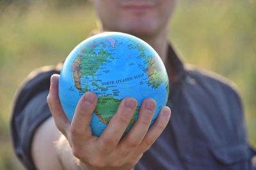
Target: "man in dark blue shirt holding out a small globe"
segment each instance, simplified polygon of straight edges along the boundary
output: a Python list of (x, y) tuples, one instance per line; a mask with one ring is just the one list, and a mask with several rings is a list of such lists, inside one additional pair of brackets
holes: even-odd
[(89, 126), (97, 96), (86, 92), (77, 104), (74, 120), (69, 122), (58, 99), (59, 76), (54, 74), (58, 68), (41, 70), (30, 76), (13, 110), (15, 152), (26, 167), (253, 169), (253, 154), (247, 144), (236, 90), (220, 76), (185, 67), (168, 44), (168, 20), (175, 0), (94, 0), (93, 3), (102, 31), (133, 34), (159, 53), (171, 81), (168, 106), (172, 109), (172, 121), (169, 122), (170, 109), (165, 106), (148, 129), (156, 103), (145, 99), (138, 121), (121, 139), (137, 104), (127, 97), (97, 138), (92, 136)]

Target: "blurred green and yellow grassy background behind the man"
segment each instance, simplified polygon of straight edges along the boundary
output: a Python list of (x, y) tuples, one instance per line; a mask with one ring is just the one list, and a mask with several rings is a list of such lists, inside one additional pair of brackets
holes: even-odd
[[(234, 81), (256, 148), (256, 1), (179, 0), (170, 39), (184, 60)], [(15, 91), (36, 67), (55, 65), (97, 28), (85, 0), (0, 0), (0, 169), (24, 169), (10, 140)]]

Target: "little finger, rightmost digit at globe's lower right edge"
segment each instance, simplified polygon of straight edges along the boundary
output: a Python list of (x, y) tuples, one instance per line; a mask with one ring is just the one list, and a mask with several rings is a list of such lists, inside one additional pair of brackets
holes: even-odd
[(132, 155), (141, 155), (146, 152), (150, 146), (156, 141), (160, 134), (164, 131), (164, 128), (168, 124), (171, 116), (171, 110), (168, 106), (164, 106), (159, 113), (156, 122), (150, 127), (145, 138), (141, 142), (141, 145), (137, 147), (137, 150)]

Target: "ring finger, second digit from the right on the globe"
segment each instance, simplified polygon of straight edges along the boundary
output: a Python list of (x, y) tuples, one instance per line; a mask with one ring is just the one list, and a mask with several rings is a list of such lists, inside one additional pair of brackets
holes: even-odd
[(155, 110), (156, 102), (153, 99), (148, 98), (143, 101), (136, 124), (133, 125), (132, 129), (118, 145), (118, 152), (123, 157), (129, 155), (134, 148), (140, 145), (145, 134), (147, 134)]

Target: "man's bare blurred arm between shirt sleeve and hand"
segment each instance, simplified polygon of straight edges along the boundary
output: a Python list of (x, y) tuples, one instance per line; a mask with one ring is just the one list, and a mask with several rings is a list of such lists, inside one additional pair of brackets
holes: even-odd
[(67, 140), (56, 128), (52, 117), (36, 130), (32, 157), (38, 170), (80, 170)]

